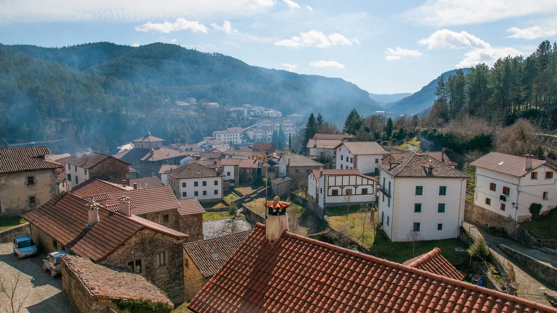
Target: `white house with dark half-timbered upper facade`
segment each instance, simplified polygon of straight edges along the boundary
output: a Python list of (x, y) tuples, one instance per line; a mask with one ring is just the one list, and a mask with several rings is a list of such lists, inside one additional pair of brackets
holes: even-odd
[(375, 202), (378, 179), (362, 175), (359, 169), (315, 169), (307, 175), (308, 200), (325, 207)]

